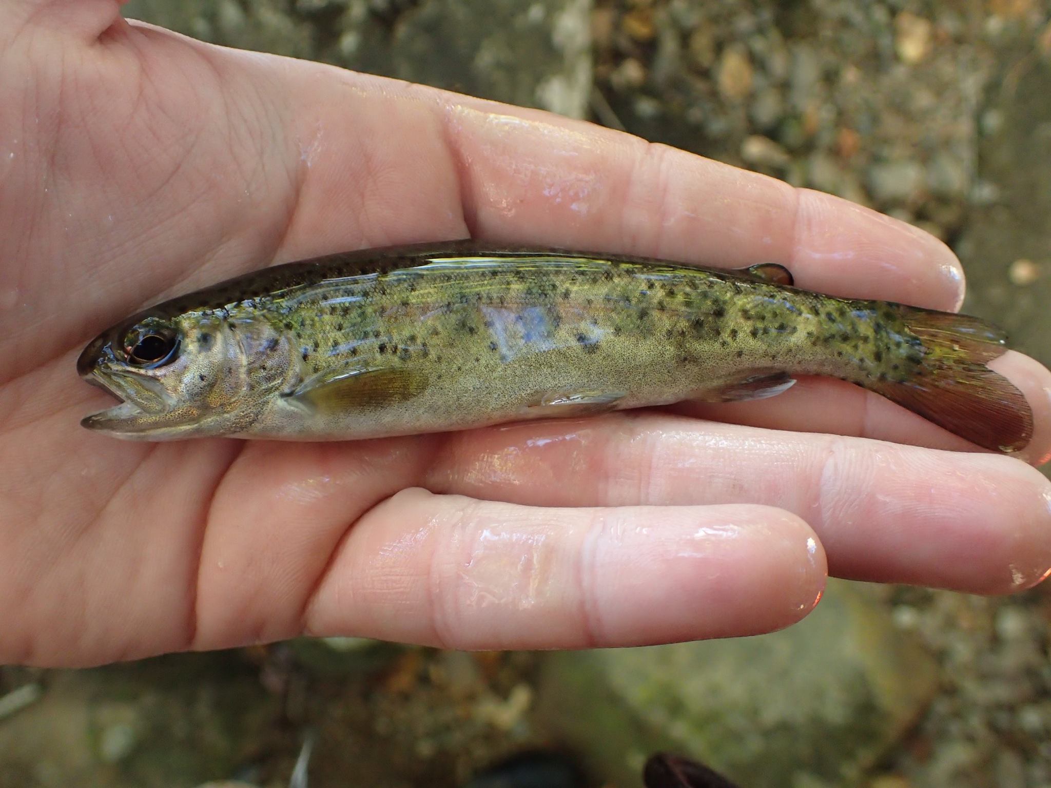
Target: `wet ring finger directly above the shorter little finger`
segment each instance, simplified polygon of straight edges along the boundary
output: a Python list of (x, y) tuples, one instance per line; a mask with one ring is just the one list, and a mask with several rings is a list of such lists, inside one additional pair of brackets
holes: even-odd
[(1000, 455), (615, 414), (465, 433), (425, 484), (532, 505), (776, 506), (861, 580), (997, 594), (1051, 567), (1051, 484)]

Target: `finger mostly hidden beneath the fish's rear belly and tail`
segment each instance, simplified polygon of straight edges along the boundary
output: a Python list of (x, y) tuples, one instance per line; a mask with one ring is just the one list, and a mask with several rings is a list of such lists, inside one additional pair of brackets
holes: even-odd
[[(1009, 351), (989, 365), (1010, 379), (1033, 409), (1033, 437), (1014, 456), (1040, 464), (1051, 455), (1051, 372)], [(853, 435), (952, 451), (985, 451), (864, 389), (831, 378), (803, 378), (776, 397), (748, 402), (683, 402), (673, 409), (700, 418), (775, 430)]]

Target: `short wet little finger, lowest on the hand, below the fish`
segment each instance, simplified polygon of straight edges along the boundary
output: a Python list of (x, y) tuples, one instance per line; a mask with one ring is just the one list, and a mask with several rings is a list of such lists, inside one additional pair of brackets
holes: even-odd
[(350, 531), (307, 630), (448, 648), (754, 635), (817, 604), (825, 560), (762, 506), (535, 509), (399, 493)]

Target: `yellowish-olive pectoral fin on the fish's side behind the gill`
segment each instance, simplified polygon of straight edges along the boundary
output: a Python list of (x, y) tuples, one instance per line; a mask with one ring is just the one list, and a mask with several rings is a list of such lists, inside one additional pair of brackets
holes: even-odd
[(313, 411), (371, 410), (412, 399), (426, 388), (427, 376), (408, 367), (351, 367), (313, 375), (287, 396)]

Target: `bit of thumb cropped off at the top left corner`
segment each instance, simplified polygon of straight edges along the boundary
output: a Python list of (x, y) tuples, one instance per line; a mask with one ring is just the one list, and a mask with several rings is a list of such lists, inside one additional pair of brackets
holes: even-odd
[(126, 0), (0, 0), (0, 48), (34, 30), (53, 30), (87, 43), (121, 19)]

